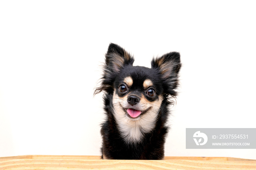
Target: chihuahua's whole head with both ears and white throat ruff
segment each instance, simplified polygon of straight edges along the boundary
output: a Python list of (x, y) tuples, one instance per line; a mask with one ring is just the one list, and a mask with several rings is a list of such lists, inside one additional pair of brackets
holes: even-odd
[(112, 95), (112, 112), (125, 142), (140, 142), (155, 127), (162, 101), (176, 96), (180, 55), (173, 52), (154, 58), (151, 68), (133, 66), (133, 57), (110, 44), (102, 84), (95, 90)]

